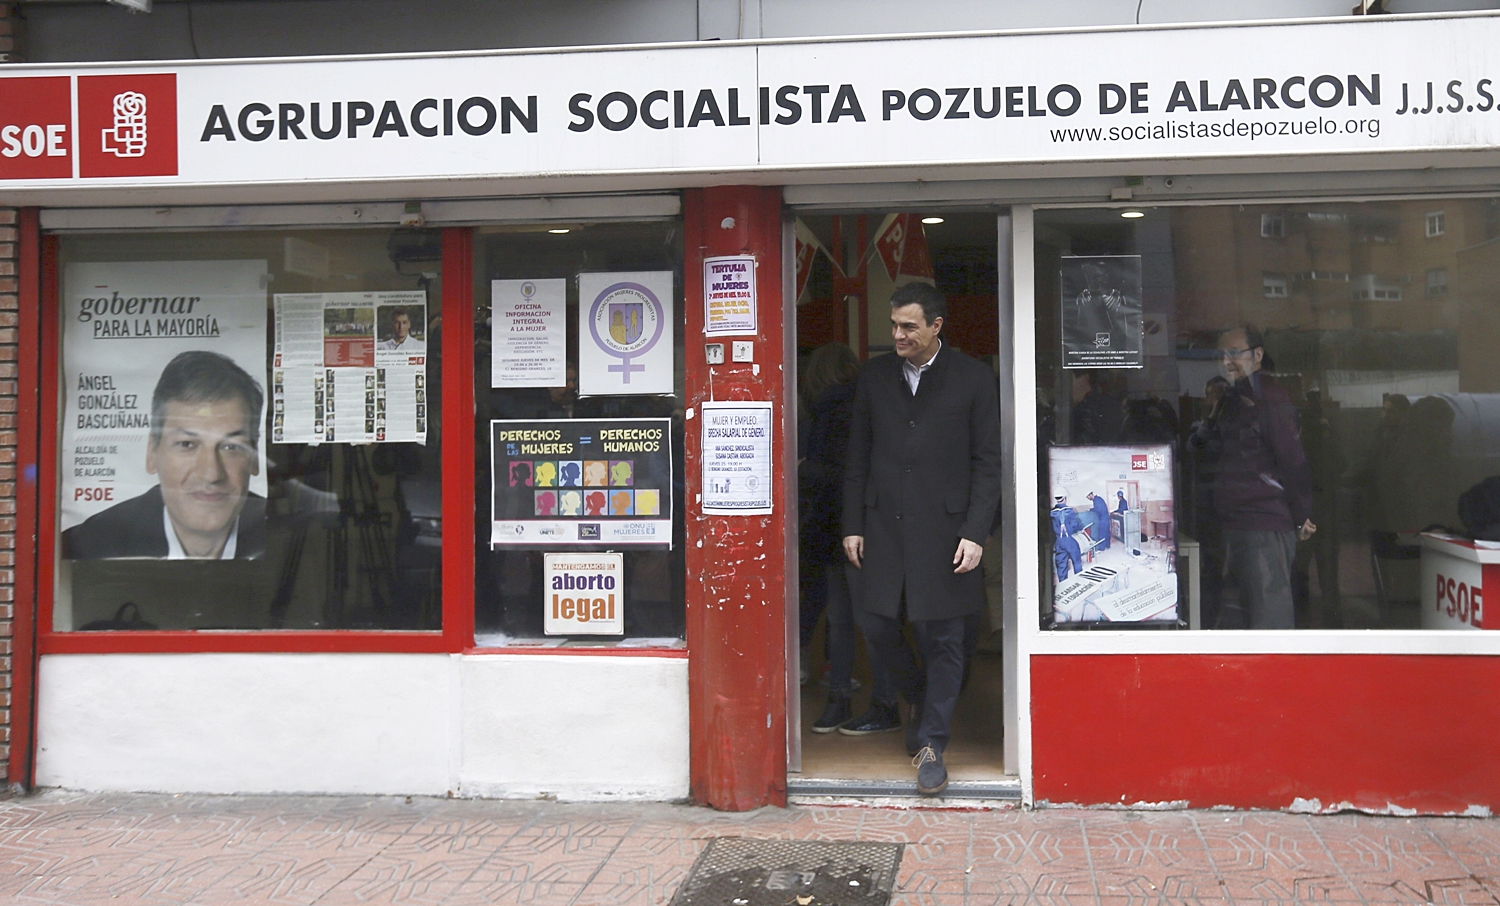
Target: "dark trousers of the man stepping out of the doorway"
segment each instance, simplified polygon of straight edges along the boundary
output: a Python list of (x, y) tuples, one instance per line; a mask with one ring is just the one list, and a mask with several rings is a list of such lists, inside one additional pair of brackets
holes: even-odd
[(891, 676), (906, 704), (922, 705), (922, 723), (916, 732), (920, 742), (938, 752), (946, 748), (952, 735), (952, 710), (963, 687), (964, 626), (970, 618), (912, 621), (926, 669), (918, 668), (902, 634), (900, 620), (856, 609), (855, 622), (870, 645), (876, 670)]

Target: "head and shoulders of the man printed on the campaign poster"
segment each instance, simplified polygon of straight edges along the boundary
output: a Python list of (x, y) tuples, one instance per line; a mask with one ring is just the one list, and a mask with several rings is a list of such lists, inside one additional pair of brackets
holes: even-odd
[(234, 360), (194, 350), (152, 393), (146, 471), (158, 484), (63, 532), (64, 560), (254, 560), (266, 550), (260, 384)]

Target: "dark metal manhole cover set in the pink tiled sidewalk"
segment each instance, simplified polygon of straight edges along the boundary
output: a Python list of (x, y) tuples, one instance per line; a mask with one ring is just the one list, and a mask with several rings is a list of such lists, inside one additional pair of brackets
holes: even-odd
[(886, 906), (900, 843), (714, 837), (672, 906)]

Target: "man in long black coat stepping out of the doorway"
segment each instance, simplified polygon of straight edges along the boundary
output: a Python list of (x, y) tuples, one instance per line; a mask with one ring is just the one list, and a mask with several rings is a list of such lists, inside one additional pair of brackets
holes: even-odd
[[(1002, 483), (994, 372), (942, 344), (946, 315), (927, 284), (891, 296), (896, 356), (872, 358), (860, 375), (844, 471), (855, 621), (912, 706), (906, 746), (924, 795), (948, 784), (942, 753), (963, 682), (964, 618), (984, 604), (976, 567)], [(902, 634), (903, 604), (922, 669)]]

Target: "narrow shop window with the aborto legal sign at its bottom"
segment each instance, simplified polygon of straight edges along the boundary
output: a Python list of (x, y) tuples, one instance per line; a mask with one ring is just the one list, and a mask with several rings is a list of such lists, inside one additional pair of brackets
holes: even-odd
[(676, 222), (480, 228), (478, 646), (681, 644)]

